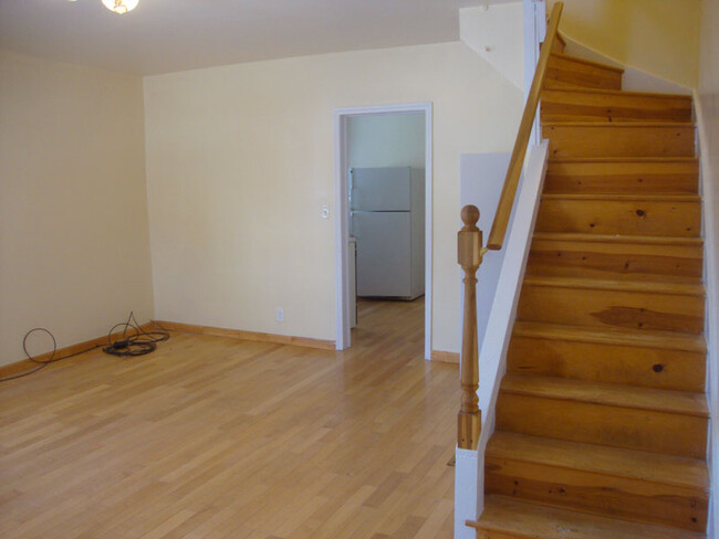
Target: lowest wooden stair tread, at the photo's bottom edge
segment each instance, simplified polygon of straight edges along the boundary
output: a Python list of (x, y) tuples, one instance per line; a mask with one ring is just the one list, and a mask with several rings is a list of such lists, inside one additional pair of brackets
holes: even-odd
[(706, 539), (704, 533), (580, 511), (518, 501), (506, 496), (484, 497), (478, 522), (467, 522), (501, 537), (525, 539)]

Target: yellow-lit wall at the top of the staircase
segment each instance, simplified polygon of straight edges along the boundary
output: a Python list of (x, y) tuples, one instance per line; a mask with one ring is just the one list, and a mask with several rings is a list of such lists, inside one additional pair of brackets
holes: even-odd
[(563, 1), (560, 30), (567, 38), (622, 64), (697, 86), (701, 0)]

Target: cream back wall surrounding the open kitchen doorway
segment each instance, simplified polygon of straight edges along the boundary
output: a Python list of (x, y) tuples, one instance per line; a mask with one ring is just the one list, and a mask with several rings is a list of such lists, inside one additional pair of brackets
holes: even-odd
[(458, 350), (459, 155), (508, 151), (522, 101), (462, 43), (145, 78), (157, 317), (334, 339), (333, 109), (433, 102), (434, 348)]

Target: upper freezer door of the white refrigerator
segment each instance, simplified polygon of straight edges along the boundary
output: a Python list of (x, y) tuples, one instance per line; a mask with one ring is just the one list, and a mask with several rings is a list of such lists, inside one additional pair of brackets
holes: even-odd
[(409, 167), (352, 169), (350, 202), (357, 211), (409, 211)]

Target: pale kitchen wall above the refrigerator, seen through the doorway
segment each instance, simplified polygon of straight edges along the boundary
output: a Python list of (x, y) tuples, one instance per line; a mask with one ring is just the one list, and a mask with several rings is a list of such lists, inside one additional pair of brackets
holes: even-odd
[(350, 167), (425, 168), (424, 113), (364, 114), (347, 118)]

